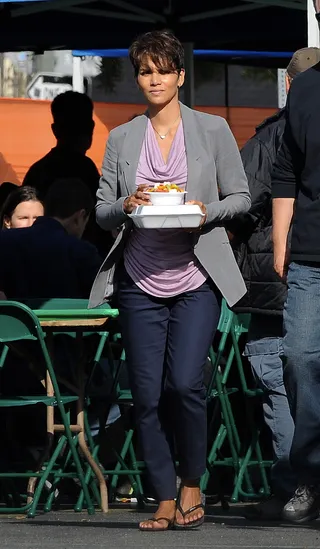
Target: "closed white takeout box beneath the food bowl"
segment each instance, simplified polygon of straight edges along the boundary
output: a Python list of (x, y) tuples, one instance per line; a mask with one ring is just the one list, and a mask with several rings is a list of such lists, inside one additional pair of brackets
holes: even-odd
[(138, 206), (131, 217), (139, 229), (195, 229), (204, 214), (196, 204), (179, 206)]

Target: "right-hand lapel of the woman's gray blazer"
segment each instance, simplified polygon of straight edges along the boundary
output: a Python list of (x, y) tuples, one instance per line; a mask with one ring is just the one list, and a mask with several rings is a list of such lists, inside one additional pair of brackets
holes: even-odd
[(201, 143), (197, 134), (193, 111), (180, 103), (184, 140), (187, 154), (187, 200), (199, 200), (199, 183), (201, 177)]

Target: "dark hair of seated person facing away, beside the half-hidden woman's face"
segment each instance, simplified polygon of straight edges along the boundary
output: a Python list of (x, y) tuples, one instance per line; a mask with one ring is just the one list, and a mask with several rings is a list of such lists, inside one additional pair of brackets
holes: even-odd
[(93, 207), (94, 200), (89, 188), (78, 178), (57, 179), (44, 200), (45, 215), (59, 219), (68, 219), (80, 210), (85, 210), (89, 215)]

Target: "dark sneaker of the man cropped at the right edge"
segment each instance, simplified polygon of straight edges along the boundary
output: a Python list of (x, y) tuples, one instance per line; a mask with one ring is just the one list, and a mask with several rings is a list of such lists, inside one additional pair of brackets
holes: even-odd
[(297, 524), (315, 520), (319, 516), (319, 503), (319, 486), (299, 486), (284, 506), (282, 517)]

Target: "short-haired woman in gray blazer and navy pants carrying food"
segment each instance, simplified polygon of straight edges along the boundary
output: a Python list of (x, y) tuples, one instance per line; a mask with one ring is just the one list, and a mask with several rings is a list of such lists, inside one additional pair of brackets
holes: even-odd
[[(227, 122), (179, 102), (185, 74), (179, 40), (169, 31), (148, 32), (132, 44), (130, 60), (148, 113), (108, 139), (96, 216), (102, 228), (120, 233), (89, 306), (118, 299), (143, 457), (159, 502), (140, 529), (159, 532), (204, 521), (203, 371), (221, 295), (235, 304), (246, 291), (221, 223), (247, 211), (250, 194)], [(130, 214), (150, 204), (143, 189), (164, 181), (186, 188), (199, 206), (204, 215), (197, 230), (133, 228)]]

